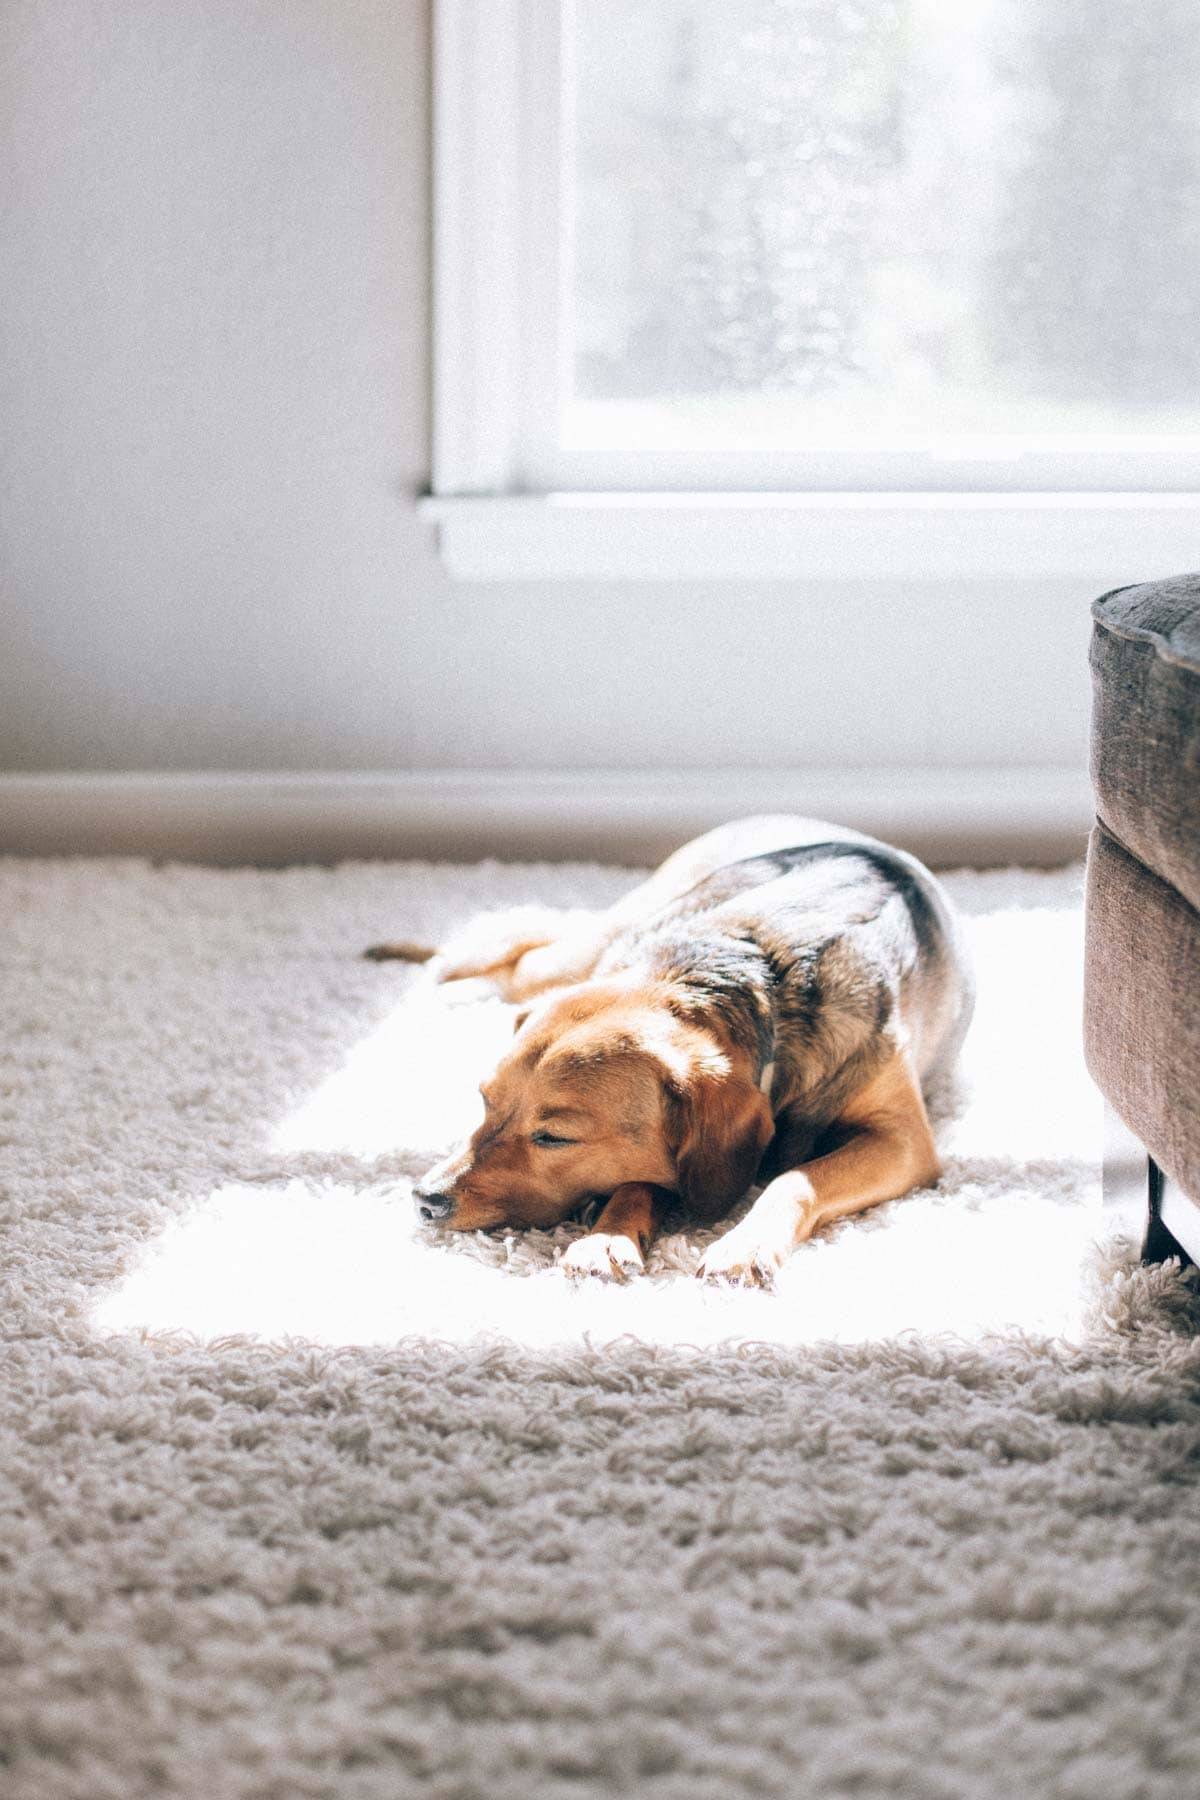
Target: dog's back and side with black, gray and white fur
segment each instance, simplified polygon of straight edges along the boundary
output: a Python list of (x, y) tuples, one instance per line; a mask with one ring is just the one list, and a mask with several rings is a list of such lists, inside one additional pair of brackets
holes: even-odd
[(626, 920), (597, 974), (687, 972), (703, 1003), (779, 1064), (779, 1103), (808, 1091), (833, 1116), (898, 1044), (927, 1082), (970, 1024), (973, 983), (945, 891), (916, 857), (858, 832), (736, 821), (685, 846), (615, 911)]

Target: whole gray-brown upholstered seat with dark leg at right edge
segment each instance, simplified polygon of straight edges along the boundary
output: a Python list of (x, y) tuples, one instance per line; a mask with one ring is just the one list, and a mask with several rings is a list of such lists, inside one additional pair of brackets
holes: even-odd
[(1200, 1262), (1200, 576), (1092, 607), (1085, 1051), (1148, 1152), (1148, 1262)]

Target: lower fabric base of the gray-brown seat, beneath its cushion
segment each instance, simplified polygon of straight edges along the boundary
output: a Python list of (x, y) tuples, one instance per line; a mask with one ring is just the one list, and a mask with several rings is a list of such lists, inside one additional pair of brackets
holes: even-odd
[(1200, 916), (1103, 826), (1088, 848), (1085, 970), (1092, 1078), (1153, 1159), (1196, 1199)]

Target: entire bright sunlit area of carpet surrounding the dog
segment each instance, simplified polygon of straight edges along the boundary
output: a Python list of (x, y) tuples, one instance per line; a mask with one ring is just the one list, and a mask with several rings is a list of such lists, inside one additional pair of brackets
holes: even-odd
[[(694, 1280), (711, 1233), (664, 1237), (644, 1278), (612, 1287), (558, 1269), (576, 1224), (470, 1237), (419, 1228), (396, 1157), (416, 1172), (471, 1129), (511, 1013), (479, 985), (417, 977), (273, 1129), (282, 1179), (219, 1186), (103, 1298), (95, 1321), (342, 1345), (480, 1332), (529, 1345), (1072, 1337), (1092, 1246), (1112, 1224), (1099, 1211), (1099, 1100), (1079, 1053), (1079, 911), (1067, 877), (1027, 877), (1051, 900), (1042, 905), (1013, 905), (1004, 889), (988, 905), (990, 880), (950, 878), (964, 889), (979, 1003), (955, 1091), (936, 1096), (941, 1184), (804, 1246), (770, 1294)], [(322, 1152), (362, 1174), (286, 1179), (290, 1157)]]

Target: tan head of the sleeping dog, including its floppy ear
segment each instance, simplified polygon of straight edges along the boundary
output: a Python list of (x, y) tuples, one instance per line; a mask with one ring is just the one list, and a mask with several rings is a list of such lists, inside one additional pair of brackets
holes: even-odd
[(675, 1190), (720, 1219), (772, 1138), (748, 1058), (678, 1019), (667, 995), (588, 981), (516, 1017), (482, 1089), (473, 1138), (416, 1188), (428, 1222), (552, 1226), (626, 1181)]

